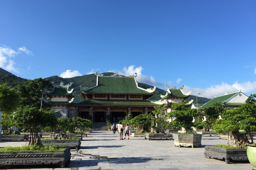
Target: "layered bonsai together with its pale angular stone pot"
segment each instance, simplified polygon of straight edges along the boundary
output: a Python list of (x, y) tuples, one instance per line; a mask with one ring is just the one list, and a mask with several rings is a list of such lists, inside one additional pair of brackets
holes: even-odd
[(169, 112), (169, 118), (175, 118), (170, 122), (169, 126), (182, 128), (182, 133), (174, 133), (174, 145), (175, 146), (200, 146), (202, 134), (188, 133), (187, 127), (193, 126), (193, 117), (197, 116), (196, 109), (188, 108), (188, 102), (182, 100), (180, 104), (172, 105), (174, 112)]

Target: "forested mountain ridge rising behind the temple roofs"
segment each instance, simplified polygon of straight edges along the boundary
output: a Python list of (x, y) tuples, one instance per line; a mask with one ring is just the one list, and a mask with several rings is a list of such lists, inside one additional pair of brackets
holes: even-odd
[[(105, 76), (111, 76), (113, 75), (113, 73), (102, 73)], [(88, 74), (88, 75), (83, 75), (83, 76), (77, 76), (77, 77), (72, 77), (72, 78), (62, 78), (59, 76), (51, 76), (51, 77), (47, 77), (47, 79), (49, 79), (51, 82), (55, 82), (57, 84), (59, 84), (61, 81), (64, 84), (68, 84), (70, 82), (73, 82), (71, 88), (74, 88), (74, 91), (77, 92), (75, 98), (77, 100), (84, 100), (82, 93), (81, 93), (81, 89), (80, 86), (82, 87), (94, 87), (96, 86), (96, 76), (95, 74)], [(148, 89), (148, 88), (153, 88), (153, 86), (150, 86), (148, 84), (145, 83), (139, 83), (138, 82), (138, 86), (144, 89)], [(151, 96), (149, 98), (149, 100), (159, 100), (161, 99), (160, 95), (165, 95), (166, 91), (156, 88), (154, 95)], [(194, 99), (194, 103), (196, 103), (196, 96), (190, 95), (190, 97), (186, 100), (190, 101), (191, 99)], [(210, 99), (204, 98), (204, 97), (197, 97), (197, 102), (198, 104), (204, 104), (205, 102), (210, 101)]]

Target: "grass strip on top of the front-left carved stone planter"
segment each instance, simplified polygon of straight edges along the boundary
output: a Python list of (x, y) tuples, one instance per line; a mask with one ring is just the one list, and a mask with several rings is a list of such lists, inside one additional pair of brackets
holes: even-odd
[(34, 152), (34, 151), (63, 151), (67, 147), (64, 146), (46, 146), (46, 145), (31, 145), (31, 146), (6, 146), (4, 148), (0, 148), (0, 152)]

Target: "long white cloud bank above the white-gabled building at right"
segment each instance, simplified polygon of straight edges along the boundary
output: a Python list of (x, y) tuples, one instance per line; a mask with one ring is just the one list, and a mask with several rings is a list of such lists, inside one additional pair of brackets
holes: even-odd
[(251, 94), (255, 93), (256, 91), (256, 81), (254, 82), (243, 82), (243, 83), (238, 83), (235, 82), (234, 84), (228, 84), (228, 83), (222, 83), (221, 85), (214, 85), (205, 89), (201, 88), (191, 88), (189, 86), (184, 86), (183, 92), (187, 93), (188, 91), (192, 91), (191, 95), (197, 95), (199, 92), (200, 94), (198, 96), (200, 97), (206, 97), (209, 99), (213, 99), (214, 96), (223, 96), (225, 92), (228, 94), (235, 93), (240, 91), (245, 94)]

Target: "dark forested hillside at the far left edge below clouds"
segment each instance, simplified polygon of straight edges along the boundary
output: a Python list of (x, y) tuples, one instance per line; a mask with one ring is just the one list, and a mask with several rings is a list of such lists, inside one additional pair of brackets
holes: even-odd
[(0, 68), (0, 84), (7, 84), (10, 87), (15, 87), (18, 84), (28, 81), (27, 79), (17, 77), (14, 74)]

